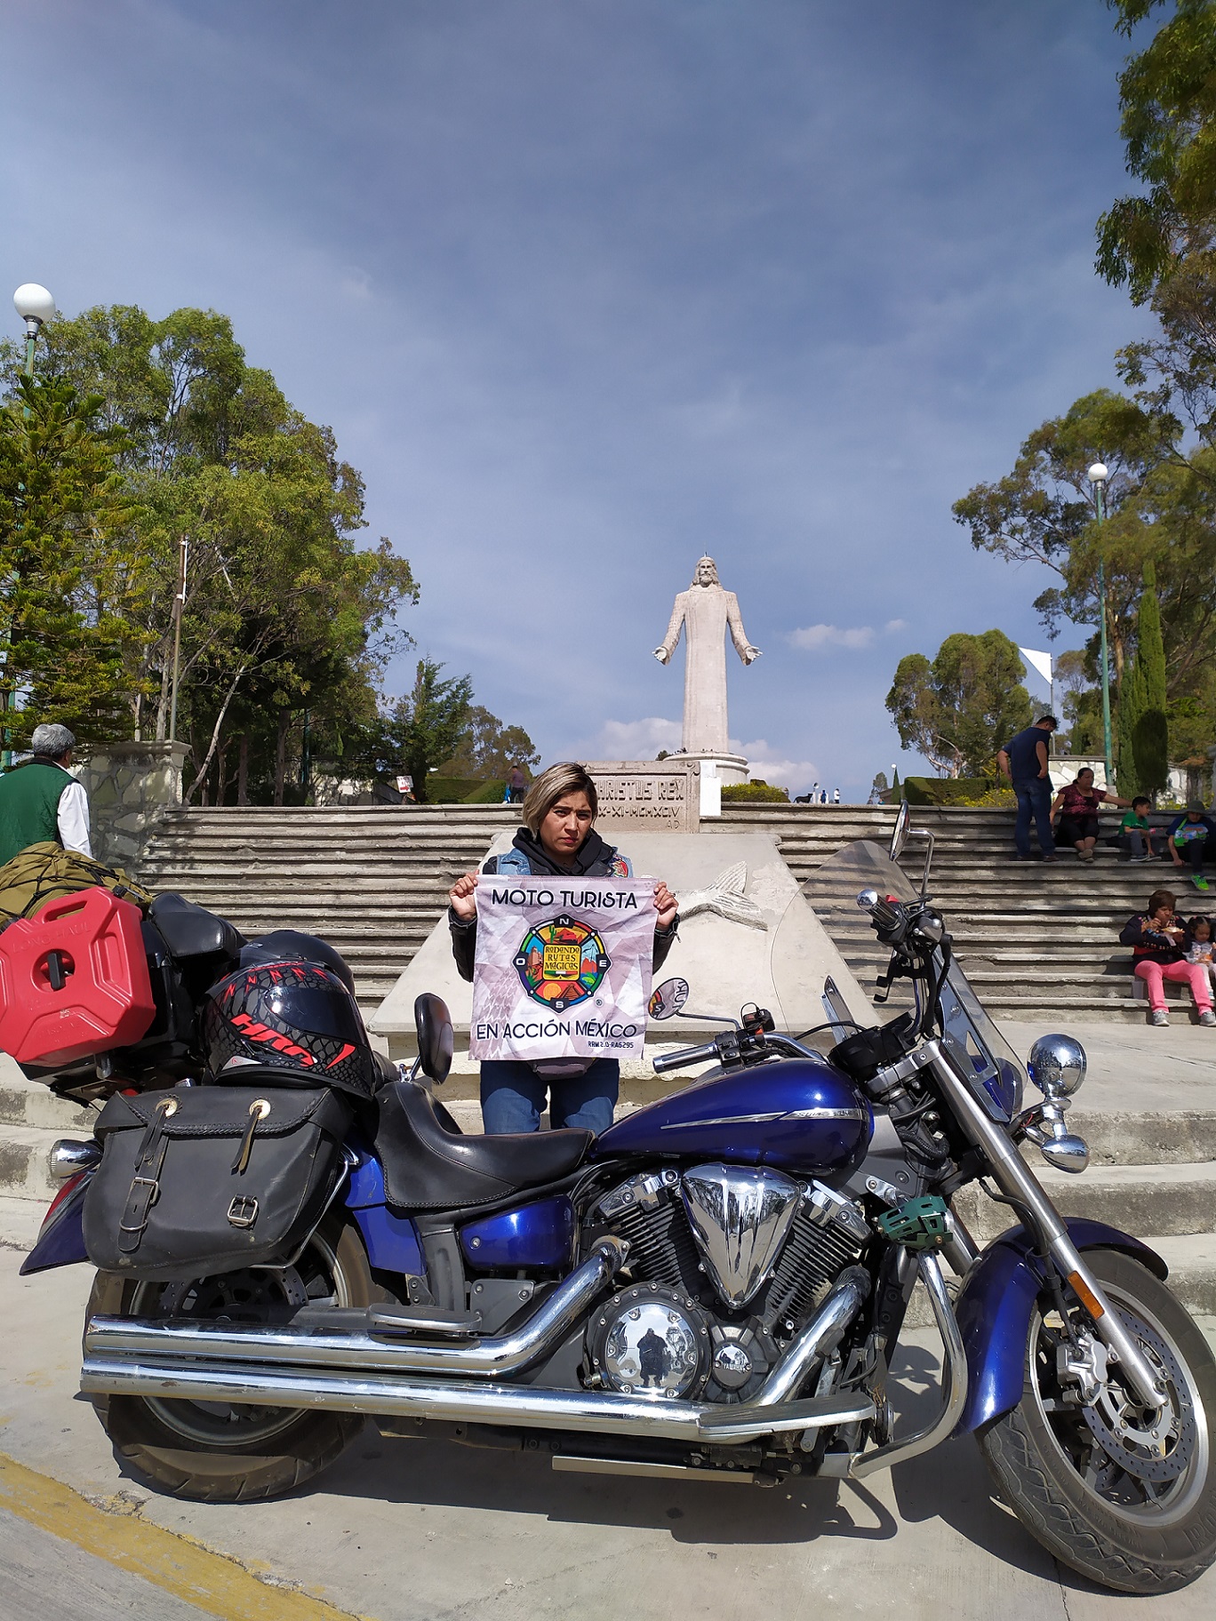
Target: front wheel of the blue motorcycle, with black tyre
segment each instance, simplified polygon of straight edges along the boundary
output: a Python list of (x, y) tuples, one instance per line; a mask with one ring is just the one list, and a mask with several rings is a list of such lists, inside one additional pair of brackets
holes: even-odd
[[(1216, 1559), (1216, 1362), (1190, 1313), (1138, 1261), (1086, 1253), (1107, 1298), (1164, 1378), (1161, 1415), (1111, 1363), (1096, 1391), (1060, 1379), (1068, 1336), (1046, 1300), (1031, 1316), (1018, 1405), (979, 1433), (1002, 1498), (1064, 1564), (1124, 1593), (1167, 1593)], [(1070, 1310), (1077, 1332), (1093, 1324)]]

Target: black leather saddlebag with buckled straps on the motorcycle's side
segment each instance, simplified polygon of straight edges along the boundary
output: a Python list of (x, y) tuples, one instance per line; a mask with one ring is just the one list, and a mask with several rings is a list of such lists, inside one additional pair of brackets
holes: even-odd
[(115, 1096), (84, 1196), (94, 1266), (182, 1282), (282, 1261), (342, 1174), (350, 1107), (331, 1088), (177, 1086)]

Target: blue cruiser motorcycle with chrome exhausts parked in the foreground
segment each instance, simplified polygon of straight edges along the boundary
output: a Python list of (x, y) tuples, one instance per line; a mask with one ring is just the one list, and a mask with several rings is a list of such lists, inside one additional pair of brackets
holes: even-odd
[[(230, 1258), (206, 1276), (141, 1263), (138, 1245), (99, 1271), (81, 1391), (117, 1454), (164, 1491), (243, 1501), (316, 1475), (368, 1417), (386, 1436), (538, 1449), (554, 1470), (759, 1486), (863, 1480), (973, 1433), (1065, 1564), (1120, 1592), (1192, 1582), (1216, 1558), (1216, 1363), (1161, 1258), (1062, 1219), (1023, 1157), (1036, 1144), (1085, 1169), (1065, 1118), (1085, 1052), (1038, 1041), (1039, 1099), (1023, 1106), (1026, 1071), (929, 898), (929, 835), (919, 882), (897, 866), (910, 836), (905, 807), (890, 851), (848, 846), (811, 895), (820, 916), (848, 903), (872, 927), (910, 1007), (858, 1028), (829, 982), (827, 1055), (817, 1031), (794, 1041), (747, 1007), (655, 1060), (712, 1065), (700, 1080), (598, 1140), (462, 1135), (431, 1091), (451, 1063), (447, 1010), (418, 999), (417, 1063), (383, 1065), (344, 1117), (290, 1253), (246, 1250), (258, 1198), (233, 1198)], [(686, 999), (658, 987), (655, 1016)], [(232, 1005), (208, 1016), (232, 1021)], [(268, 1049), (259, 1081), (274, 1052), (302, 1050), (272, 1013), (242, 1018)], [(88, 1258), (89, 1195), (122, 1141), (136, 1174), (120, 1250), (151, 1232), (182, 1198), (165, 1157), (186, 1141), (170, 1141), (177, 1104), (233, 1073), (126, 1084), (136, 1096), (107, 1110), (136, 1131), (99, 1122), (97, 1140), (58, 1144), (65, 1187), (23, 1271)], [(285, 1136), (258, 1136), (263, 1102), (232, 1172), (285, 1153)], [(970, 1183), (1012, 1224), (983, 1250), (952, 1209)], [(944, 1347), (940, 1405), (900, 1433), (890, 1370), (918, 1282)]]

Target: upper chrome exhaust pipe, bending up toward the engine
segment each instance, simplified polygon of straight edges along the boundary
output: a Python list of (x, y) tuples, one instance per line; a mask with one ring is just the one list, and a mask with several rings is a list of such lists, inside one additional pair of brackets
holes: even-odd
[(370, 1334), (328, 1334), (300, 1328), (235, 1328), (232, 1324), (157, 1323), (141, 1318), (89, 1319), (86, 1357), (130, 1357), (151, 1362), (198, 1357), (206, 1362), (287, 1363), (305, 1368), (383, 1368), (396, 1373), (454, 1373), (503, 1378), (519, 1373), (554, 1349), (590, 1310), (605, 1284), (621, 1269), (629, 1245), (611, 1234), (597, 1238), (587, 1260), (509, 1334), (459, 1344), (386, 1344)]

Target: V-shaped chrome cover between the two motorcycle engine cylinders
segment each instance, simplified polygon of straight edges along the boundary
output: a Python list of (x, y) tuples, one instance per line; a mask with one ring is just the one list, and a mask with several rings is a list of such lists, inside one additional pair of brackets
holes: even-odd
[(709, 1164), (686, 1170), (679, 1193), (705, 1274), (723, 1305), (738, 1311), (772, 1272), (803, 1183), (780, 1170)]

